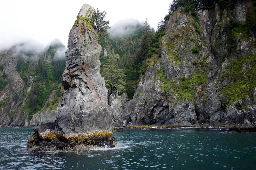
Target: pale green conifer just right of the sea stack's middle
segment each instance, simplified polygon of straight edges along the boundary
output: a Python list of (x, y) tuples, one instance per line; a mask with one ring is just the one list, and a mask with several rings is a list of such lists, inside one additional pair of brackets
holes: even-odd
[(118, 68), (117, 57), (114, 53), (109, 54), (108, 62), (104, 65), (102, 70), (102, 76), (105, 79), (107, 89), (119, 90), (119, 92), (124, 91), (124, 70)]

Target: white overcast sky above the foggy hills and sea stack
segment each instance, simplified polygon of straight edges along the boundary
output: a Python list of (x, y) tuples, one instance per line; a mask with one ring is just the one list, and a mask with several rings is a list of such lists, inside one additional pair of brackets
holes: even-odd
[(172, 0), (1, 0), (0, 48), (23, 39), (44, 45), (54, 38), (66, 46), (68, 33), (83, 4), (108, 11), (110, 25), (126, 18), (144, 21), (156, 29)]

